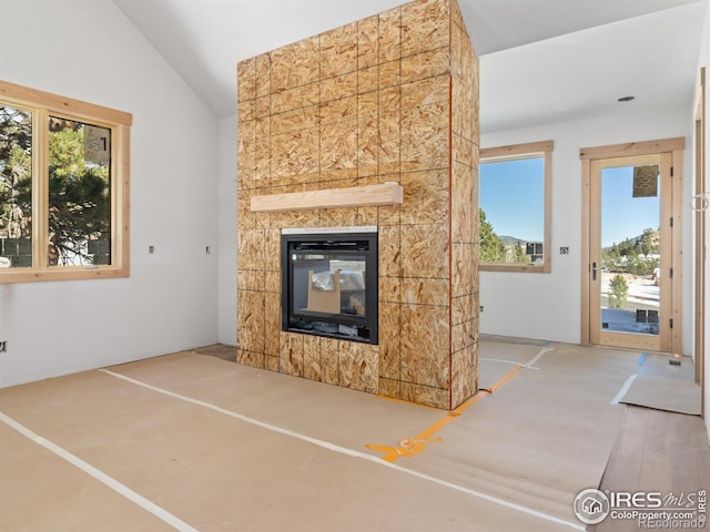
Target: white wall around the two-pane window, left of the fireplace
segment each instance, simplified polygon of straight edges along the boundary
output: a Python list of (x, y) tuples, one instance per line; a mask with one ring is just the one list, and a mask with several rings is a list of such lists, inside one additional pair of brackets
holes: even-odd
[(109, 0), (0, 20), (1, 79), (133, 114), (131, 276), (2, 286), (0, 386), (217, 341), (215, 117)]

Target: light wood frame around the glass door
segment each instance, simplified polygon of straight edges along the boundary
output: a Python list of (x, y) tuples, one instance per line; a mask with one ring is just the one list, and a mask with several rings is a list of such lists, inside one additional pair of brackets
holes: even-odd
[[(658, 141), (630, 142), (626, 144), (610, 144), (606, 146), (582, 147), (579, 151), (581, 160), (582, 205), (581, 205), (581, 328), (580, 344), (590, 345), (590, 290), (591, 264), (589, 237), (590, 202), (591, 202), (591, 162), (597, 160), (631, 157), (636, 155), (651, 155), (668, 153), (671, 156), (671, 201), (670, 203), (670, 268), (673, 275), (670, 283), (670, 317), (672, 328), (670, 334), (670, 352), (682, 352), (682, 175), (684, 137), (661, 139)], [(666, 273), (665, 275), (668, 275)]]

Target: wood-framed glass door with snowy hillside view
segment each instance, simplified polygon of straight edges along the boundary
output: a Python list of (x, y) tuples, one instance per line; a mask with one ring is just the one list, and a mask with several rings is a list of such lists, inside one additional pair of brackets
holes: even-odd
[(591, 344), (670, 350), (670, 161), (653, 154), (591, 163)]

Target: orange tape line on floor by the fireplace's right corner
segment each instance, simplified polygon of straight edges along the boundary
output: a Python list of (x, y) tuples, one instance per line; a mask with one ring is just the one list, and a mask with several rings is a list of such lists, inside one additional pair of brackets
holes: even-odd
[[(385, 456), (382, 457), (382, 459), (385, 460), (386, 462), (395, 462), (399, 457), (410, 458), (420, 453), (426, 449), (427, 442), (442, 441), (442, 438), (433, 438), (434, 433), (438, 432), (440, 429), (446, 427), (454, 419), (459, 417), (465, 410), (467, 410), (469, 407), (471, 407), (473, 405), (481, 400), (484, 397), (498, 390), (501, 386), (504, 386), (506, 382), (513, 379), (513, 377), (515, 377), (516, 374), (521, 369), (532, 369), (532, 365), (537, 362), (540, 359), (540, 357), (542, 357), (542, 355), (551, 350), (552, 350), (551, 347), (544, 347), (535, 357), (530, 359), (529, 362), (527, 364), (513, 362), (513, 364), (516, 364), (516, 367), (513, 368), (510, 371), (508, 371), (500, 380), (498, 380), (498, 382), (496, 382), (489, 388), (478, 390), (478, 393), (476, 393), (474, 397), (471, 397), (470, 399), (468, 399), (467, 401), (465, 401), (464, 403), (462, 403), (460, 406), (452, 410), (445, 418), (439, 419), (436, 423), (434, 423), (432, 427), (429, 427), (418, 436), (410, 439), (405, 438), (399, 440), (399, 444), (397, 447), (379, 446), (375, 443), (367, 443), (365, 447), (367, 447), (367, 449), (372, 449), (373, 451), (384, 452)], [(537, 369), (537, 368), (534, 368), (534, 369)], [(403, 402), (408, 402), (408, 401), (403, 401)]]

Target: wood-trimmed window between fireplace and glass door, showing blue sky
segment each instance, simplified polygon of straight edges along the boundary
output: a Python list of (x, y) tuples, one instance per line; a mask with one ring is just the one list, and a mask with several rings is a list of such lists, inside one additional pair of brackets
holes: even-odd
[(552, 141), (480, 150), (481, 270), (550, 270)]

